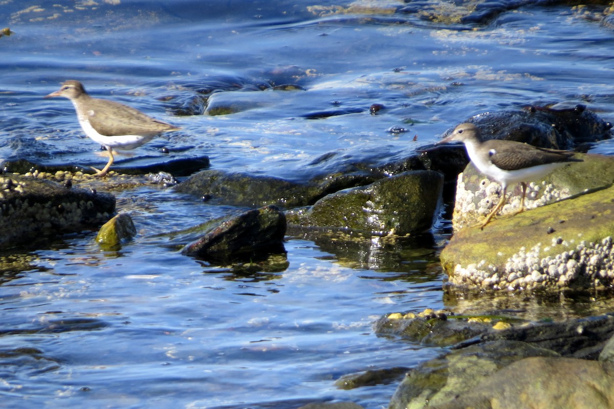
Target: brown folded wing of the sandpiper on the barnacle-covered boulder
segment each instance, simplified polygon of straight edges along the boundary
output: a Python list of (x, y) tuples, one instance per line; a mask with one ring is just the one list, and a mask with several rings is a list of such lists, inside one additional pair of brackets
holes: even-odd
[(492, 163), (503, 170), (518, 170), (554, 162), (580, 161), (572, 158), (572, 151), (538, 148), (509, 140), (488, 140), (482, 147), (488, 150)]

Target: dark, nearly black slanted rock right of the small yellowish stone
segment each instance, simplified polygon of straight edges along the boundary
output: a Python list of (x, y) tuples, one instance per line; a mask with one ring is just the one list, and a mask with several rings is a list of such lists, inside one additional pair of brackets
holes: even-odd
[(184, 247), (183, 254), (213, 261), (250, 260), (284, 253), (286, 216), (274, 206), (234, 216)]

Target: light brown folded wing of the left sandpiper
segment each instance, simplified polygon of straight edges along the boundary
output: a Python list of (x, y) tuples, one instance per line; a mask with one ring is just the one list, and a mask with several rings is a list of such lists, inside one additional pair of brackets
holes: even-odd
[[(100, 102), (104, 104), (101, 105)], [(102, 99), (90, 99), (90, 110), (87, 115), (91, 126), (104, 136), (153, 136), (160, 132), (179, 129), (151, 118), (128, 105)]]

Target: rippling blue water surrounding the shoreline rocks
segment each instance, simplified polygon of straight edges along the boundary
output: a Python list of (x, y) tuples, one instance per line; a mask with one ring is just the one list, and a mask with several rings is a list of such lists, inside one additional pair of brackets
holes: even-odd
[[(446, 25), (397, 11), (400, 1), (375, 4), (330, 13), (287, 1), (2, 1), (0, 26), (15, 34), (0, 38), (0, 157), (65, 167), (104, 162), (69, 101), (42, 99), (67, 79), (182, 126), (118, 166), (155, 162), (166, 147), (171, 158), (208, 155), (212, 169), (293, 180), (330, 170), (314, 164), (322, 155), (333, 155), (335, 166), (403, 158), (486, 111), (583, 103), (614, 122), (614, 37), (598, 7), (523, 7), (484, 25)], [(305, 90), (261, 91), (284, 83)], [(241, 110), (196, 115), (205, 90), (240, 99)], [(386, 109), (370, 115), (373, 103)], [(187, 108), (195, 115), (176, 115)], [(612, 142), (594, 151), (611, 154)], [(343, 391), (333, 381), (411, 367), (438, 350), (377, 337), (376, 318), (502, 307), (445, 298), (433, 267), (440, 232), (392, 249), (290, 237), (286, 270), (236, 272), (181, 256), (160, 234), (241, 209), (155, 186), (117, 195), (139, 230), (121, 251), (100, 251), (94, 233), (82, 232), (4, 255), (14, 261), (0, 276), (7, 407), (294, 408), (352, 400), (382, 408), (395, 383)], [(594, 308), (554, 300), (531, 313)]]

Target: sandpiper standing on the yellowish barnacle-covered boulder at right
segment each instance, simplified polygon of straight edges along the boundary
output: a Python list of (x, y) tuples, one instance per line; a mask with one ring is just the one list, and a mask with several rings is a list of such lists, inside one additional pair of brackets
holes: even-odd
[(437, 145), (449, 142), (463, 142), (469, 158), (476, 168), (484, 175), (492, 178), (502, 186), (501, 199), (492, 209), (491, 213), (480, 224), (483, 229), (492, 216), (497, 213), (505, 202), (505, 193), (510, 183), (520, 182), (523, 187), (523, 196), (520, 201), (520, 210), (524, 210), (524, 196), (527, 190), (526, 180), (535, 180), (550, 173), (565, 162), (581, 162), (582, 159), (572, 158), (574, 152), (538, 148), (527, 143), (512, 140), (491, 139), (483, 141), (480, 129), (472, 123), (462, 123), (445, 139)]

